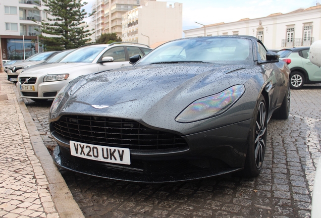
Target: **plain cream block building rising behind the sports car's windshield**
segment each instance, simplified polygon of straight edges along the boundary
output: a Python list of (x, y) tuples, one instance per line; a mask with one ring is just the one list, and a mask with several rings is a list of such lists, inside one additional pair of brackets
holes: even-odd
[(152, 45), (182, 38), (182, 4), (147, 1), (122, 17), (122, 40)]

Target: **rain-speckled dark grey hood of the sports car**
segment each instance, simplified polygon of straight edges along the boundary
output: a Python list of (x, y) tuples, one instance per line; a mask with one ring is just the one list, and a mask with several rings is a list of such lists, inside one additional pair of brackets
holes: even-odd
[[(252, 68), (251, 71), (248, 71), (249, 67)], [(61, 103), (64, 106), (60, 105), (52, 118), (64, 114), (86, 114), (132, 119), (147, 126), (150, 124), (159, 128), (179, 129), (180, 127), (171, 125), (178, 124), (174, 122), (175, 118), (189, 104), (233, 85), (253, 81), (250, 80), (253, 75), (249, 72), (254, 73), (254, 69), (258, 70), (258, 67), (171, 64), (94, 73), (72, 82), (73, 87), (67, 91), (69, 98)], [(250, 97), (251, 94), (247, 96)], [(257, 92), (253, 92), (252, 96), (253, 102), (243, 105), (243, 108), (249, 108), (249, 118)], [(232, 114), (233, 112), (237, 110), (232, 110)], [(159, 119), (162, 122), (158, 122)], [(228, 116), (224, 119), (228, 119)], [(247, 118), (243, 116), (240, 121), (242, 119)], [(226, 120), (222, 120), (223, 123), (226, 123)], [(193, 131), (189, 125), (184, 124), (184, 129)], [(220, 126), (220, 122), (217, 122), (217, 125)]]

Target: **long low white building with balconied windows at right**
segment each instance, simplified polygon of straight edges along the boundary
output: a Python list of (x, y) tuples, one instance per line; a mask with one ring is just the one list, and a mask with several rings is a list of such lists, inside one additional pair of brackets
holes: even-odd
[(256, 19), (205, 25), (184, 30), (185, 37), (205, 35), (250, 35), (260, 39), (269, 49), (309, 46), (321, 39), (321, 6)]

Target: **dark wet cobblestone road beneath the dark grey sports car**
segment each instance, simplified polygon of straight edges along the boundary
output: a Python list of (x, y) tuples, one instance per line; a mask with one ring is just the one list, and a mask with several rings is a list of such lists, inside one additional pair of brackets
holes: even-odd
[[(257, 178), (216, 177), (184, 183), (139, 184), (61, 170), (86, 217), (310, 217), (320, 156), (321, 86), (291, 92), (286, 121), (271, 120), (263, 169)], [(50, 102), (25, 100), (41, 137)]]

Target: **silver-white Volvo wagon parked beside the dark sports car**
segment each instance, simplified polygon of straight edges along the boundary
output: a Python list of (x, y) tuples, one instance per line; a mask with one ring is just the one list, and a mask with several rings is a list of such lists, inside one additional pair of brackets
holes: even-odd
[(88, 45), (77, 48), (59, 63), (34, 67), (18, 76), (19, 96), (43, 101), (56, 97), (71, 80), (85, 74), (131, 66), (129, 58), (143, 57), (152, 49), (129, 42)]

